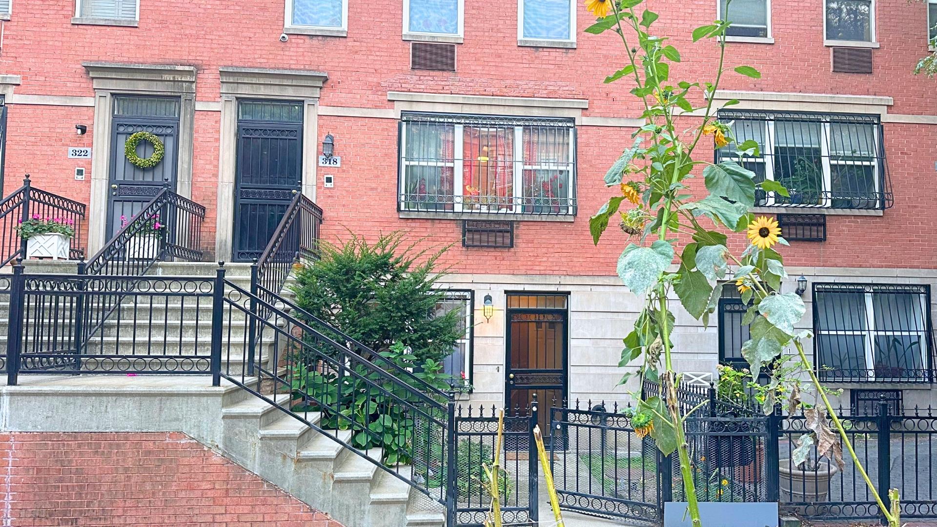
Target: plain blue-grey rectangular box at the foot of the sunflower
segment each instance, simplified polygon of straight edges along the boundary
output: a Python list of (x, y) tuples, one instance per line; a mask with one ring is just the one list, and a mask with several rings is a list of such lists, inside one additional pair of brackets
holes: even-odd
[[(706, 527), (778, 527), (778, 503), (699, 502)], [(663, 504), (663, 527), (691, 527), (686, 502)]]

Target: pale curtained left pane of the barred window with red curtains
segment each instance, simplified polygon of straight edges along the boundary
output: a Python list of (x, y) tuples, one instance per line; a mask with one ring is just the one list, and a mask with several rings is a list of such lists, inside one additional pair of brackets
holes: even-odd
[(454, 128), (408, 123), (404, 192), (408, 208), (453, 210)]

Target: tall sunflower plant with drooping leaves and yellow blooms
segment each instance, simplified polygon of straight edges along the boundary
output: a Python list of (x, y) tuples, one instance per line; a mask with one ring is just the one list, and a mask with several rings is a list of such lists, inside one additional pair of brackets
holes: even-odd
[[(602, 205), (589, 218), (589, 231), (598, 244), (612, 218), (620, 217), (621, 230), (637, 243), (621, 253), (617, 274), (632, 293), (644, 299), (644, 306), (632, 332), (624, 339), (620, 366), (639, 363), (636, 373), (625, 375), (626, 383), (634, 375), (642, 382), (660, 382), (659, 397), (639, 400), (632, 415), (635, 431), (649, 434), (664, 455), (677, 452), (680, 474), (694, 527), (700, 527), (699, 504), (692, 463), (684, 434), (686, 419), (696, 409), (682, 413), (677, 403), (677, 385), (681, 375), (674, 369), (672, 332), (676, 319), (670, 309), (672, 294), (683, 309), (708, 324), (715, 310), (725, 280), (734, 282), (742, 300), (751, 303), (742, 324), (751, 324), (751, 340), (742, 354), (751, 364), (751, 371), (782, 363), (785, 348), (794, 348), (802, 369), (810, 374), (818, 402), (805, 410), (806, 426), (811, 430), (798, 442), (795, 462), (807, 458), (815, 447), (819, 455), (843, 466), (842, 445), (852, 456), (857, 470), (865, 478), (871, 493), (891, 527), (899, 527), (898, 508), (890, 511), (865, 473), (840, 419), (834, 414), (824, 387), (813, 373), (804, 354), (802, 341), (809, 332), (797, 332), (795, 324), (806, 308), (800, 296), (781, 293), (787, 279), (783, 259), (774, 246), (787, 245), (773, 218), (754, 218), (749, 210), (755, 204), (756, 192), (789, 196), (781, 184), (765, 180), (756, 182), (755, 174), (744, 168), (744, 158), (758, 156), (759, 144), (754, 141), (736, 143), (732, 129), (715, 118), (713, 107), (716, 90), (725, 65), (725, 31), (730, 23), (715, 21), (692, 31), (694, 42), (715, 41), (719, 59), (711, 82), (692, 82), (671, 76), (671, 67), (681, 62), (677, 49), (668, 38), (654, 36), (650, 28), (659, 15), (647, 8), (639, 9), (643, 0), (587, 0), (586, 7), (598, 21), (586, 29), (600, 35), (606, 31), (620, 38), (626, 62), (605, 79), (605, 83), (628, 80), (631, 93), (641, 100), (645, 124), (632, 134), (633, 143), (605, 174), (608, 187), (620, 189), (617, 196)], [(676, 69), (676, 68), (675, 68)], [(736, 74), (754, 79), (761, 74), (750, 66), (733, 68)], [(729, 100), (722, 107), (737, 104)], [(689, 123), (685, 124), (685, 122)], [(710, 137), (735, 160), (710, 163), (693, 159), (700, 141)], [(690, 180), (702, 173), (706, 196), (693, 196)], [(622, 205), (625, 205), (625, 208)], [(740, 255), (728, 248), (731, 233), (747, 233), (749, 244)], [(677, 270), (670, 265), (677, 260)], [(730, 270), (730, 265), (732, 269)], [(766, 390), (765, 409), (770, 413), (781, 394), (789, 395), (789, 412), (801, 405), (800, 379), (774, 374)], [(832, 420), (839, 437), (827, 426)], [(897, 503), (897, 490), (892, 499)], [(894, 505), (894, 504), (893, 504)]]

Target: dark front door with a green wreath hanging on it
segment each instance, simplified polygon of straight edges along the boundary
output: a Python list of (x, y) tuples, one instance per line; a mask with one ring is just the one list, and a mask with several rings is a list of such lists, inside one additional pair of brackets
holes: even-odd
[[(107, 217), (109, 240), (156, 196), (164, 183), (169, 183), (175, 190), (179, 158), (179, 98), (115, 96), (113, 101), (111, 196)], [(140, 168), (126, 158), (126, 140), (141, 131), (156, 135), (163, 143), (163, 158), (154, 167)], [(150, 158), (153, 150), (153, 143), (141, 141), (137, 144), (140, 158)]]

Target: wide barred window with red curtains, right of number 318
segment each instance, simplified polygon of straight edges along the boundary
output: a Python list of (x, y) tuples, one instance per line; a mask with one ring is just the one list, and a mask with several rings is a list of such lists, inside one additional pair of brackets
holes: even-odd
[(401, 211), (575, 214), (570, 119), (405, 113)]

